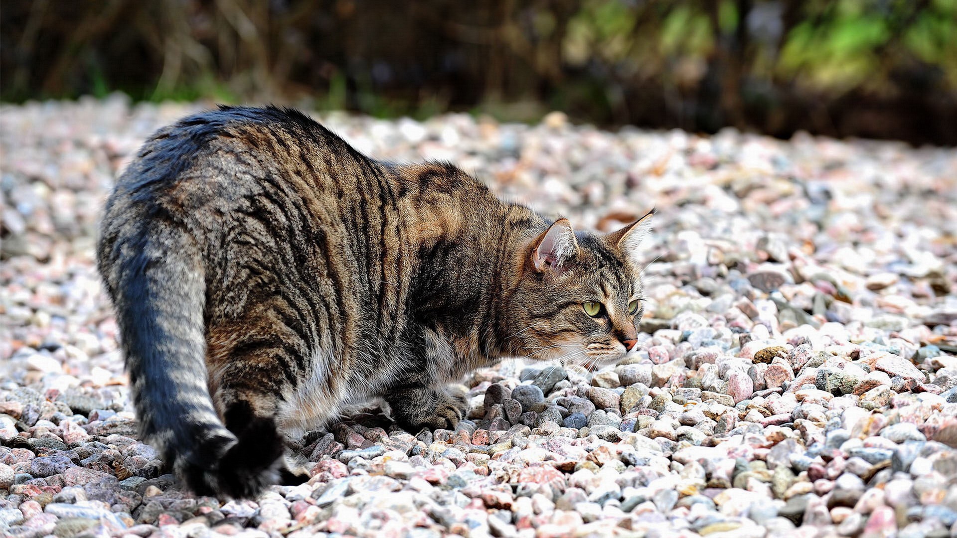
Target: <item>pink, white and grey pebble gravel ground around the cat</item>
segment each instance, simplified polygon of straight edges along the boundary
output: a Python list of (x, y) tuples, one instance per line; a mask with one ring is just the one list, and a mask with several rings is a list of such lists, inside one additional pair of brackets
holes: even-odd
[(957, 535), (957, 152), (560, 114), (323, 120), (580, 227), (657, 207), (638, 350), (505, 361), (455, 432), (371, 409), (301, 439), (308, 483), (189, 494), (136, 437), (93, 244), (118, 170), (196, 108), (0, 107), (5, 535)]

